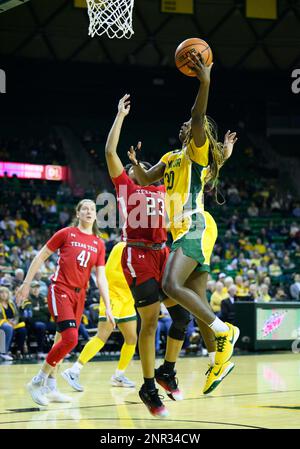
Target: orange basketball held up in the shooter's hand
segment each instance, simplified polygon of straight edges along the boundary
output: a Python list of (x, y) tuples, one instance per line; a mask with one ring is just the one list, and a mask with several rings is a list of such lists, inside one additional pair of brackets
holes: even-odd
[(205, 65), (209, 66), (212, 63), (213, 54), (211, 48), (203, 39), (198, 39), (197, 37), (186, 39), (176, 48), (175, 64), (184, 75), (196, 76), (195, 72), (189, 67), (190, 61), (188, 57), (197, 53), (201, 53)]

